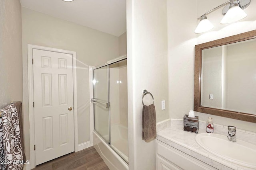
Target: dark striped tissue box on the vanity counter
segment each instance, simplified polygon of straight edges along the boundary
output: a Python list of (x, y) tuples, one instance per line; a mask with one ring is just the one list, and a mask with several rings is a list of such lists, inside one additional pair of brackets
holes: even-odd
[(184, 115), (183, 117), (184, 131), (198, 133), (198, 116), (195, 118)]

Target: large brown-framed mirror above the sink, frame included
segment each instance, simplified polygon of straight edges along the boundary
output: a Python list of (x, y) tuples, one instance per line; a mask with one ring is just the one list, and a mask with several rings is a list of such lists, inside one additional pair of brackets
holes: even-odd
[(194, 111), (256, 123), (256, 30), (195, 46)]

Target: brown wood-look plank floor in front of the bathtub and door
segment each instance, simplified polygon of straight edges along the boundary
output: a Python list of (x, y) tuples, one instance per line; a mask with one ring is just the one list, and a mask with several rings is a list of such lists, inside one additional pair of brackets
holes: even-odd
[(109, 170), (109, 168), (94, 147), (90, 147), (40, 164), (33, 170)]

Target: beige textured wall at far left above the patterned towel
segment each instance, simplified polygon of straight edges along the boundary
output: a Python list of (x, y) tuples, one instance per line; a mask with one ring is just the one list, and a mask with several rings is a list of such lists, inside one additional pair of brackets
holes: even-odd
[(22, 101), (22, 33), (19, 0), (0, 0), (0, 109)]

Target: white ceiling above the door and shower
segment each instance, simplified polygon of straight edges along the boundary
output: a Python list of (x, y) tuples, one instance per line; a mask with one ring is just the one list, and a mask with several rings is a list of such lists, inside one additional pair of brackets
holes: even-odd
[(118, 37), (126, 31), (126, 0), (20, 0), (20, 3), (26, 8)]

